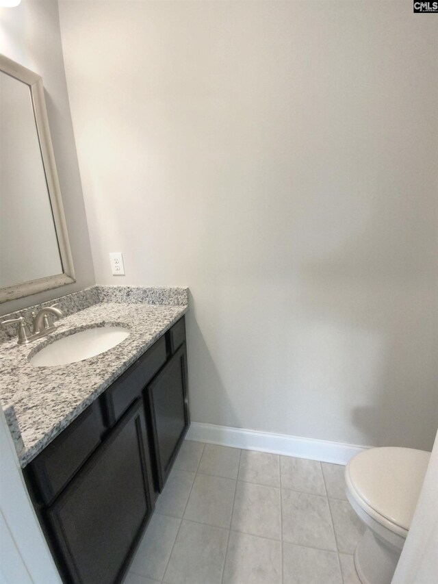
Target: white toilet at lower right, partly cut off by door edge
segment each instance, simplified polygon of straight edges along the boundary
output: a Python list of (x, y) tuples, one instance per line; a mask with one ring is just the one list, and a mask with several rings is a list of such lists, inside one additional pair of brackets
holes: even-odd
[(430, 453), (413, 448), (370, 448), (347, 464), (347, 498), (367, 526), (355, 552), (363, 584), (391, 582), (429, 457)]

